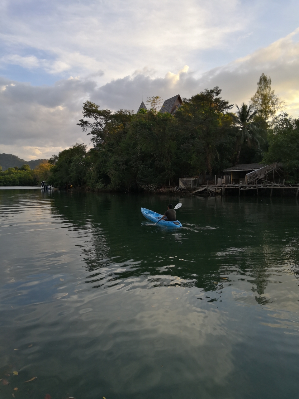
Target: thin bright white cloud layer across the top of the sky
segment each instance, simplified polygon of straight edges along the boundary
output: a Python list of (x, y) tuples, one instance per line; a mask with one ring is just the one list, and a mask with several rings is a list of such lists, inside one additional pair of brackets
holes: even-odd
[(11, 0), (1, 12), (2, 67), (61, 77), (100, 69), (106, 82), (144, 65), (166, 73), (190, 59), (198, 67), (194, 51), (229, 49), (234, 34), (246, 34), (254, 18), (239, 0)]

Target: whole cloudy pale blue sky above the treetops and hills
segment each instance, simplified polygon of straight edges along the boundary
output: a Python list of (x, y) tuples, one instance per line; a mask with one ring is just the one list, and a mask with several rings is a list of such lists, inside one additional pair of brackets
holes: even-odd
[(0, 153), (49, 158), (76, 142), (83, 102), (133, 109), (214, 86), (248, 102), (264, 72), (299, 116), (294, 0), (2, 0)]

